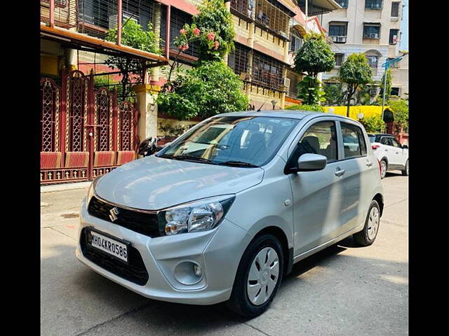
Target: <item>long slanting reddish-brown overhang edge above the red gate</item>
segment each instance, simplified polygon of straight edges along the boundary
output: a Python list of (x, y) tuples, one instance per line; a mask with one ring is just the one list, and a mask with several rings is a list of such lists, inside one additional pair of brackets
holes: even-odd
[(68, 29), (48, 27), (41, 24), (41, 36), (43, 38), (60, 41), (65, 45), (71, 46), (72, 48), (85, 47), (92, 51), (105, 53), (107, 55), (132, 57), (135, 59), (141, 59), (142, 61), (153, 62), (151, 66), (168, 64), (168, 59), (161, 55), (156, 55), (152, 52), (130, 48), (126, 45), (116, 45), (116, 43), (88, 36), (86, 34), (80, 34), (76, 31), (70, 31)]

